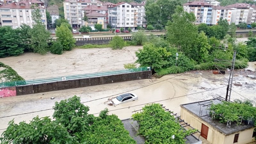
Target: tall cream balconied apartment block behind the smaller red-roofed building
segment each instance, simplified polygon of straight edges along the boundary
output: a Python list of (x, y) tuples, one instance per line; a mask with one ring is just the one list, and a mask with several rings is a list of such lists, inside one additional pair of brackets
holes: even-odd
[(101, 6), (98, 0), (65, 0), (63, 2), (65, 19), (69, 20), (71, 26), (80, 28), (83, 25), (82, 9), (88, 5)]

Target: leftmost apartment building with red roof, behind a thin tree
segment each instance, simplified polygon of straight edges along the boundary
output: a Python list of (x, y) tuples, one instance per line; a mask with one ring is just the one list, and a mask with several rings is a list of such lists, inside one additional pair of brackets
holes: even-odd
[(21, 24), (27, 24), (32, 27), (33, 20), (31, 12), (32, 4), (40, 4), (38, 8), (42, 14), (42, 22), (47, 25), (46, 13), (44, 4), (37, 0), (23, 0), (17, 3), (6, 4), (0, 7), (2, 26), (11, 26), (12, 28), (19, 28)]

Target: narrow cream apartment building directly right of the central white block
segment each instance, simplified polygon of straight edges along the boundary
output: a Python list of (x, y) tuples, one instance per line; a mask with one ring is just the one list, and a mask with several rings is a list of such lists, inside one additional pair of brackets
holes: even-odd
[(147, 21), (144, 18), (145, 17), (145, 8), (144, 8), (145, 4), (138, 4), (135, 2), (131, 2), (129, 4), (132, 4), (138, 8), (138, 20), (137, 20), (138, 24), (137, 24), (137, 26), (146, 27)]

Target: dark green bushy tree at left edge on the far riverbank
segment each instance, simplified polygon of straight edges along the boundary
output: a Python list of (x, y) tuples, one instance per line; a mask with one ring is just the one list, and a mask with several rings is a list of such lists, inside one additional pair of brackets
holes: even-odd
[(23, 41), (20, 29), (12, 29), (8, 26), (0, 27), (0, 58), (17, 56), (24, 52), (26, 43)]

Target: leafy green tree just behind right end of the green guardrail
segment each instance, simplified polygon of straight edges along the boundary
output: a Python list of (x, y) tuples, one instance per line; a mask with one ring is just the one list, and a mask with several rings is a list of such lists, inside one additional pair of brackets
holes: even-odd
[(156, 47), (153, 44), (145, 44), (143, 49), (135, 52), (141, 67), (152, 66), (156, 71), (168, 64), (168, 57), (171, 55), (165, 48)]

